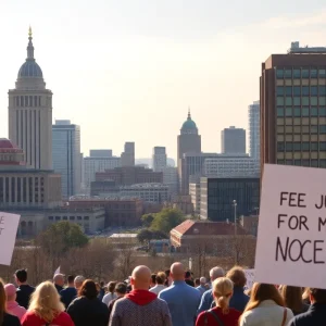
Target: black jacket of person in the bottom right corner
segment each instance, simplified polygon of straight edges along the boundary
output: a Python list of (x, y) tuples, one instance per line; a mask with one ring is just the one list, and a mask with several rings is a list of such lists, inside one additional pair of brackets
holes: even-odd
[(289, 326), (325, 326), (326, 304), (314, 303), (308, 312), (291, 319)]

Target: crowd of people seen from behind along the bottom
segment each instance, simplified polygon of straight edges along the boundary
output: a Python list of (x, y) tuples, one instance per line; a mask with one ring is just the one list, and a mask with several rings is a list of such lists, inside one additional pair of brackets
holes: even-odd
[(137, 266), (122, 283), (54, 275), (28, 285), (27, 271), (13, 284), (0, 279), (0, 326), (324, 326), (326, 289), (255, 283), (244, 290), (239, 266), (193, 279), (181, 263), (152, 274)]

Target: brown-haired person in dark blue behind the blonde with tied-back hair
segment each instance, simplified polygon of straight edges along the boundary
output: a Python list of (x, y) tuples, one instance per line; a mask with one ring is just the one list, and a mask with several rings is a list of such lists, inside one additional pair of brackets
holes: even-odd
[(241, 267), (235, 266), (227, 272), (226, 277), (234, 283), (234, 294), (229, 301), (229, 306), (242, 313), (249, 301), (249, 297), (244, 294), (246, 274)]

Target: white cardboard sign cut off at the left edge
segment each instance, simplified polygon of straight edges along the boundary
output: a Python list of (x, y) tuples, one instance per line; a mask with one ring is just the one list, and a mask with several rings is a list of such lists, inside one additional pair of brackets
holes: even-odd
[(10, 265), (21, 215), (0, 212), (0, 264)]

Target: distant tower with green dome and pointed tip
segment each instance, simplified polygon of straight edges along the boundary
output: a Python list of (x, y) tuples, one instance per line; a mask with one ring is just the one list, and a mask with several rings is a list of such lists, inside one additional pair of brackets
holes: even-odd
[(191, 118), (190, 110), (188, 111), (188, 117), (184, 122), (180, 135), (178, 136), (178, 178), (179, 178), (179, 192), (183, 195), (189, 195), (189, 185), (185, 175), (185, 167), (183, 167), (183, 158), (186, 153), (201, 153), (201, 136), (198, 135), (198, 127), (196, 122)]

